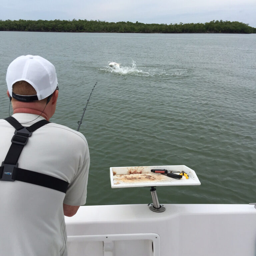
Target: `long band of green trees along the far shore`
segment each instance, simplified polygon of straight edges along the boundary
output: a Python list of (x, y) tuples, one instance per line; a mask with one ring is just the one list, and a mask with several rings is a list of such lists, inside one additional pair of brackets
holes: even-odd
[(144, 24), (100, 20), (0, 20), (0, 31), (116, 32), (116, 33), (256, 33), (256, 28), (238, 21), (206, 23)]

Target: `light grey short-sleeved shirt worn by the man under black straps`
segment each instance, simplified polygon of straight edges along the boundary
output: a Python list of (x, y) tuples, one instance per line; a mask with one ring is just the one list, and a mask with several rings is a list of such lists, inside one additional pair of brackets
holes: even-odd
[[(13, 115), (20, 123), (37, 117)], [(42, 120), (39, 117), (31, 124)], [(0, 161), (11, 145), (14, 128), (0, 120)], [(67, 193), (21, 181), (0, 181), (0, 256), (67, 255), (63, 203), (84, 205), (90, 165), (85, 137), (49, 123), (33, 132), (18, 160), (19, 167), (67, 181)]]

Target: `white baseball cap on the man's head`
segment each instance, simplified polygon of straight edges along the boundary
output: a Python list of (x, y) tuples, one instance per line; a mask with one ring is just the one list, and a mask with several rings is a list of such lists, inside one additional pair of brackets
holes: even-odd
[(20, 56), (9, 65), (6, 82), (11, 97), (13, 97), (12, 86), (18, 81), (31, 84), (36, 90), (38, 100), (50, 96), (58, 85), (53, 64), (40, 56), (33, 55)]

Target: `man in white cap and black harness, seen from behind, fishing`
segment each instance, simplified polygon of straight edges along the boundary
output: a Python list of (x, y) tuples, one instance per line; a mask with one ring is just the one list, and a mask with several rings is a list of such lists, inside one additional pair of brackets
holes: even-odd
[(0, 120), (0, 256), (67, 255), (64, 215), (86, 201), (87, 141), (47, 122), (58, 98), (49, 61), (20, 56), (6, 82), (14, 114)]

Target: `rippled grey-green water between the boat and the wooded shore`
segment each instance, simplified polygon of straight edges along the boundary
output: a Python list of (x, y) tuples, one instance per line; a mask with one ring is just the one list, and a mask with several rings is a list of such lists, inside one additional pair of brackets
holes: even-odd
[[(80, 128), (91, 155), (88, 205), (152, 202), (149, 188), (111, 189), (111, 166), (180, 164), (201, 186), (158, 187), (160, 203), (250, 203), (255, 46), (255, 34), (0, 32), (0, 93), (14, 58), (41, 55), (60, 87), (51, 121), (76, 129), (97, 82)], [(5, 118), (8, 97), (0, 101)]]

